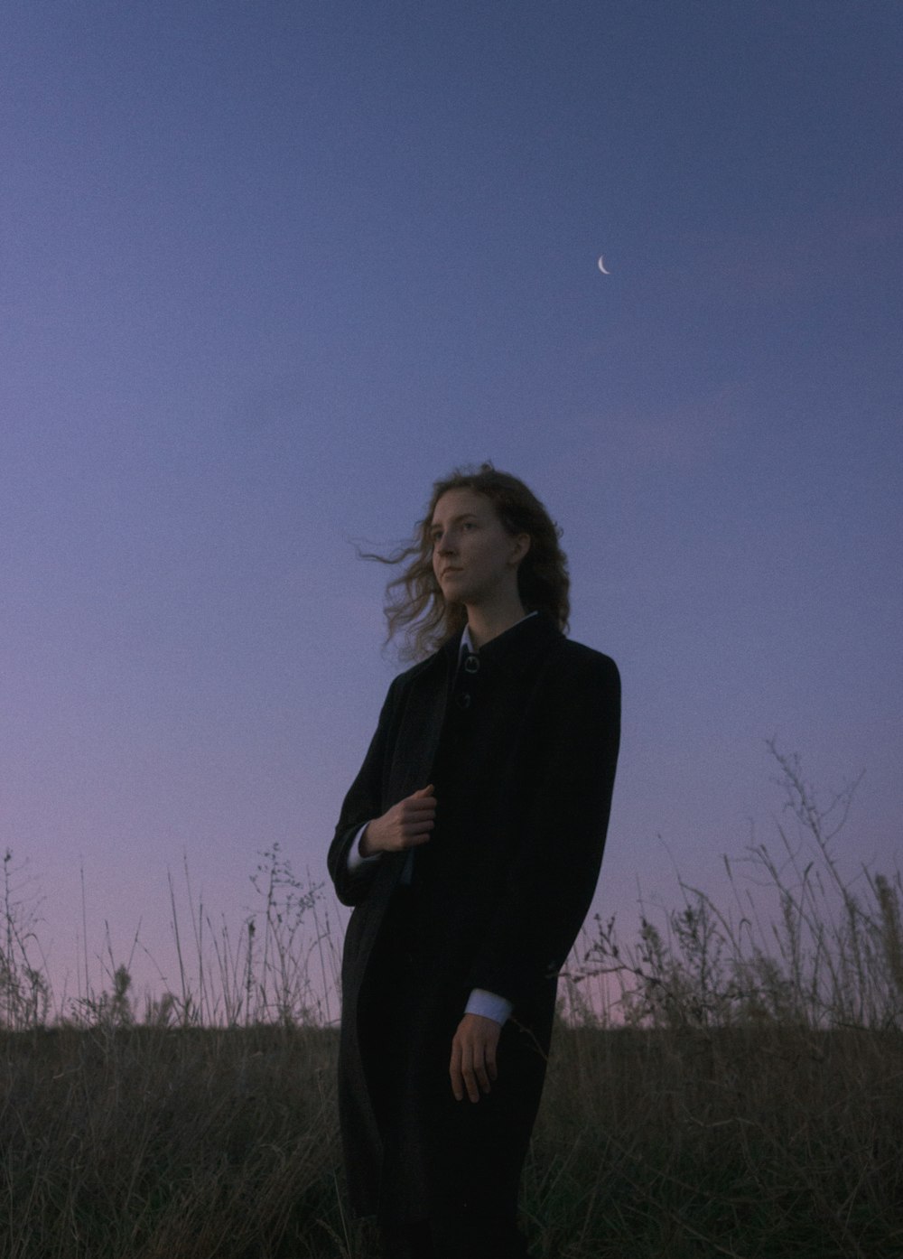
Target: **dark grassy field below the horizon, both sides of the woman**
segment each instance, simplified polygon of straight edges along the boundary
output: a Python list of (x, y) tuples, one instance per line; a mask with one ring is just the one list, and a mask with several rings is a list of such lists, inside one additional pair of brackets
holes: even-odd
[[(324, 1029), (6, 1034), (9, 1259), (366, 1259)], [(524, 1181), (545, 1259), (897, 1259), (903, 1044), (559, 1027)]]

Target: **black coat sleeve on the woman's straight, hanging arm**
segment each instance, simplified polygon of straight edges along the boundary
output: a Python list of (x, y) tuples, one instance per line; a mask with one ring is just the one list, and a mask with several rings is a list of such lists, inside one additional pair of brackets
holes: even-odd
[(612, 660), (583, 648), (555, 674), (515, 855), (469, 976), (515, 1013), (557, 977), (589, 910), (621, 735)]

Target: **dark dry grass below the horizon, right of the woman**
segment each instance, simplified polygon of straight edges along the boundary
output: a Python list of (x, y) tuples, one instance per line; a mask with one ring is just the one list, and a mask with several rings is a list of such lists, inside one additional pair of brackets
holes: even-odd
[(526, 1177), (538, 1254), (903, 1253), (903, 1044), (793, 1027), (559, 1036)]

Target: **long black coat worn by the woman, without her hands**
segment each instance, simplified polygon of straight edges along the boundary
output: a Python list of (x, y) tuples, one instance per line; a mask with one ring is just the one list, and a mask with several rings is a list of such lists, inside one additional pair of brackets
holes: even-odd
[[(360, 1212), (433, 1214), (437, 1194), (471, 1202), (489, 1165), (491, 1183), (516, 1196), (558, 971), (602, 860), (620, 738), (613, 661), (543, 614), (489, 642), (474, 675), (457, 671), (458, 650), (452, 640), (393, 681), (329, 854), (354, 906), (339, 1099)], [(414, 851), (411, 886), (399, 885), (404, 854), (350, 875), (359, 828), (428, 783), (436, 830)], [(455, 1103), (448, 1083), (471, 988), (514, 1006), (499, 1081), (475, 1105)]]

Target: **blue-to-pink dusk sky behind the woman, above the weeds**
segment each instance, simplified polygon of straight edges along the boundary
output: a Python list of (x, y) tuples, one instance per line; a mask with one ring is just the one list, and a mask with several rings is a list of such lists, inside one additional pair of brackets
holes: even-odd
[(897, 862), (902, 35), (895, 0), (9, 0), (0, 847), (58, 991), (107, 937), (171, 983), (185, 864), (236, 920), (273, 844), (326, 878), (400, 667), (355, 548), (482, 460), (621, 669), (596, 913), (771, 842), (772, 738), (825, 798), (864, 771), (838, 842)]

